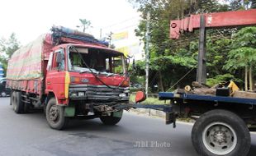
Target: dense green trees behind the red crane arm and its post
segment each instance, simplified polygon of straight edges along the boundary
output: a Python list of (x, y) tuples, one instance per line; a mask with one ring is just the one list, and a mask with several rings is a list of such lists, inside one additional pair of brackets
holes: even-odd
[[(169, 21), (181, 19), (189, 14), (248, 8), (252, 7), (249, 4), (254, 1), (247, 0), (244, 1), (244, 4), (241, 3), (241, 0), (229, 0), (227, 4), (218, 3), (216, 0), (130, 0), (130, 2), (142, 12), (142, 20), (135, 33), (144, 40), (146, 14), (148, 12), (150, 14), (149, 83), (157, 83), (159, 90), (166, 90), (176, 84), (192, 67), (197, 66), (198, 57), (199, 31), (196, 30), (193, 33), (182, 34), (180, 39), (171, 40), (169, 39)], [(243, 66), (240, 63), (254, 62), (252, 53), (255, 52), (251, 49), (255, 48), (253, 46), (256, 46), (254, 27), (242, 29), (237, 33), (238, 30), (207, 30), (206, 65), (209, 83), (216, 84), (223, 80), (224, 78), (221, 78), (220, 75), (225, 77), (226, 73), (232, 73), (238, 76), (238, 78), (242, 78), (243, 75), (237, 70)], [(236, 34), (235, 38), (234, 34)], [(230, 52), (232, 50), (234, 51)], [(232, 53), (239, 53), (237, 55), (247, 55), (245, 53), (249, 53), (250, 60), (243, 57), (243, 59), (240, 59), (239, 57), (241, 56), (232, 56)], [(238, 60), (239, 63), (237, 63)], [(150, 76), (152, 77), (155, 74), (157, 78), (150, 79)], [(143, 75), (145, 75), (145, 62), (140, 61), (137, 62), (135, 76)], [(228, 78), (231, 79), (232, 77)], [(190, 85), (195, 79), (196, 70), (188, 74), (174, 88)], [(153, 88), (152, 85), (151, 88)]]

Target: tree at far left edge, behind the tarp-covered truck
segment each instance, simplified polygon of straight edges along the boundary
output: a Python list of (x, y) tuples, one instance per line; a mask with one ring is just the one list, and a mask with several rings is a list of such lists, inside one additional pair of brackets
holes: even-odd
[(12, 33), (9, 39), (0, 39), (0, 62), (2, 63), (4, 73), (7, 71), (8, 59), (12, 56), (12, 53), (17, 51), (20, 47), (21, 45), (18, 42), (15, 33)]

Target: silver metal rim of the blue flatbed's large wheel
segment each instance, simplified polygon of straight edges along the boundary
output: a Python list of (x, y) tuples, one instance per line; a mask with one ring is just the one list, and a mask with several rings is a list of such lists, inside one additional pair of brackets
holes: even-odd
[(214, 122), (204, 129), (202, 141), (211, 153), (225, 155), (235, 149), (237, 136), (230, 125), (224, 122)]

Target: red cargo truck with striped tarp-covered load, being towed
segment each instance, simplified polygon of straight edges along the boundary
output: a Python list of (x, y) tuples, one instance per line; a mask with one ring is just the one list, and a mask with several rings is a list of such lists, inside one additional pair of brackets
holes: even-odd
[(8, 62), (13, 110), (44, 108), (50, 127), (58, 130), (71, 117), (119, 122), (130, 94), (124, 54), (90, 34), (61, 26), (51, 30), (18, 49)]

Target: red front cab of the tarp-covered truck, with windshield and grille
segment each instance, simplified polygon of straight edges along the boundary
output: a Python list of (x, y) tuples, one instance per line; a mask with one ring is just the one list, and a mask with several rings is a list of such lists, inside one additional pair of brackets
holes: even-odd
[[(54, 98), (56, 105), (64, 106), (65, 117), (101, 117), (102, 122), (107, 117), (108, 124), (116, 124), (110, 117), (121, 119), (118, 108), (129, 102), (123, 53), (92, 44), (60, 44), (50, 53), (46, 70), (47, 101)], [(55, 104), (47, 103), (48, 122), (56, 118)]]

